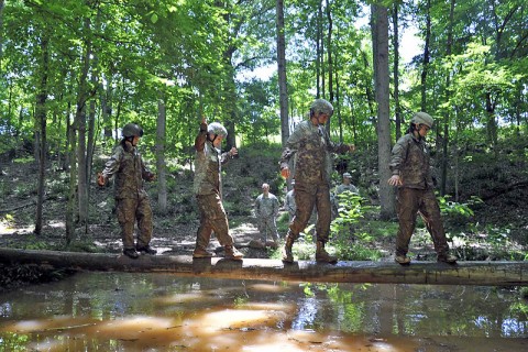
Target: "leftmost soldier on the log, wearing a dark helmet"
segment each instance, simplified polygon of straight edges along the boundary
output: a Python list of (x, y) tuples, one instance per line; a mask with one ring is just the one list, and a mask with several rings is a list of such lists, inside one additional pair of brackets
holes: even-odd
[[(138, 143), (143, 136), (143, 129), (135, 123), (128, 123), (122, 130), (123, 140), (108, 160), (97, 183), (105, 186), (116, 175), (116, 210), (121, 226), (123, 254), (138, 258), (138, 252), (156, 254), (150, 246), (152, 238), (152, 209), (148, 195), (143, 188), (143, 180), (153, 180), (151, 173), (138, 152)], [(138, 243), (134, 245), (134, 222), (138, 221)]]

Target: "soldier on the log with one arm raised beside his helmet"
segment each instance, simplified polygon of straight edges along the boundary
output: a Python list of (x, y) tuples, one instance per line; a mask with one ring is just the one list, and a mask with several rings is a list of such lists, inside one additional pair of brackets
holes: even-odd
[(211, 233), (226, 250), (226, 258), (242, 260), (243, 255), (233, 245), (229, 234), (229, 224), (221, 199), (221, 167), (238, 154), (235, 147), (222, 153), (220, 147), (228, 131), (218, 122), (207, 124), (204, 119), (200, 132), (195, 140), (195, 184), (194, 191), (200, 211), (200, 227), (196, 233), (196, 246), (193, 257), (211, 257), (207, 251)]

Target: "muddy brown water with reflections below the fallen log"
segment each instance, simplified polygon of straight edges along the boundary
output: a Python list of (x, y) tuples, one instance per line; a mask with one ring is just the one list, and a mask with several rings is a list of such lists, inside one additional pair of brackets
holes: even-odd
[(527, 351), (514, 305), (493, 287), (84, 273), (1, 295), (0, 351)]

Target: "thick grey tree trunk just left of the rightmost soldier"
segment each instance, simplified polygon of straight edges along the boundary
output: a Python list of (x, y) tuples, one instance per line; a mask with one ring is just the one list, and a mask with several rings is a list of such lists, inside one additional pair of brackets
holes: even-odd
[(372, 6), (372, 31), (374, 52), (374, 81), (377, 102), (377, 163), (380, 170), (381, 219), (395, 216), (394, 190), (387, 184), (391, 178), (391, 120), (388, 106), (388, 15), (387, 8)]

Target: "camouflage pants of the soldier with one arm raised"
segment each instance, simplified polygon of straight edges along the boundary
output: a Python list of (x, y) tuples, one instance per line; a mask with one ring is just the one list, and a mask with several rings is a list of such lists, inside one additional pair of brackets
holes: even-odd
[(196, 196), (200, 210), (200, 227), (196, 233), (196, 248), (206, 250), (212, 232), (222, 246), (233, 245), (233, 238), (229, 234), (228, 216), (222, 200), (217, 194)]

